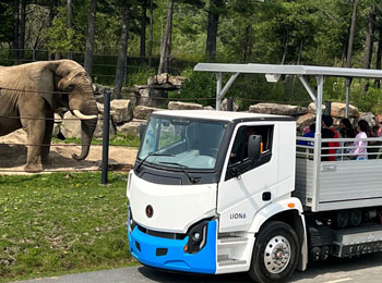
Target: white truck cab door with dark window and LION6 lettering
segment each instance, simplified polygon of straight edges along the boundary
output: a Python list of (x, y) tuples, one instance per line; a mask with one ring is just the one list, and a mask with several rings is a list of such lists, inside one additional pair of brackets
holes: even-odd
[[(247, 231), (255, 212), (270, 204), (277, 184), (277, 124), (239, 124), (218, 186), (219, 232)], [(252, 162), (248, 137), (261, 135), (263, 151)]]

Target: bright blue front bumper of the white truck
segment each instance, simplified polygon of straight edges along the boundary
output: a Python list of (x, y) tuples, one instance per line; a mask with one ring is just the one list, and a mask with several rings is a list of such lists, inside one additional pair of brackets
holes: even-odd
[[(129, 222), (128, 222), (129, 225)], [(216, 271), (216, 229), (217, 221), (207, 224), (205, 246), (196, 254), (184, 253), (189, 237), (169, 239), (147, 235), (138, 226), (132, 232), (128, 230), (130, 253), (141, 263), (184, 272), (210, 273)], [(166, 250), (167, 253), (158, 253)]]

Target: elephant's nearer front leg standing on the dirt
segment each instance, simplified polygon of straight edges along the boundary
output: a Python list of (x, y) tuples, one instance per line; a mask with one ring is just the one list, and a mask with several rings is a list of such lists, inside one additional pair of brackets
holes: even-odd
[(26, 172), (43, 171), (41, 143), (45, 135), (45, 120), (31, 120), (26, 124), (27, 133), (27, 156), (24, 170)]

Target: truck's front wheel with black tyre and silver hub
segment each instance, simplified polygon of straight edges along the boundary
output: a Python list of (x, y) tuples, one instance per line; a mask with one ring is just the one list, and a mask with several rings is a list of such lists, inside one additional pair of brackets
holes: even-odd
[(259, 232), (249, 275), (259, 283), (285, 282), (298, 261), (296, 232), (279, 221), (271, 221)]

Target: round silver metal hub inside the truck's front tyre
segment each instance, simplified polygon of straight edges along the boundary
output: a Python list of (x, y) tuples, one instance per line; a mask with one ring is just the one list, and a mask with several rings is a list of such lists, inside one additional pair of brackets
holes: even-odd
[(275, 236), (266, 244), (264, 264), (268, 272), (277, 274), (288, 266), (290, 260), (290, 245), (286, 237)]

